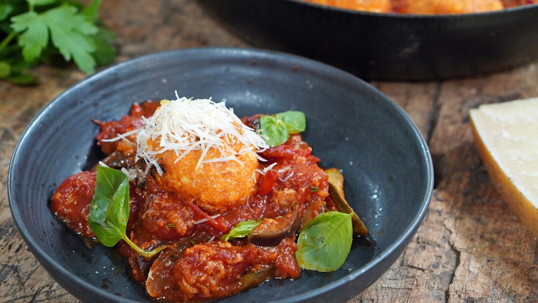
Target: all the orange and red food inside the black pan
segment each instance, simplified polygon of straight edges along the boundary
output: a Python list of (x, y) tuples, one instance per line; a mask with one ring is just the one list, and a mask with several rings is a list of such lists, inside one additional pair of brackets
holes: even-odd
[(538, 0), (305, 0), (336, 8), (379, 13), (440, 15), (496, 11)]

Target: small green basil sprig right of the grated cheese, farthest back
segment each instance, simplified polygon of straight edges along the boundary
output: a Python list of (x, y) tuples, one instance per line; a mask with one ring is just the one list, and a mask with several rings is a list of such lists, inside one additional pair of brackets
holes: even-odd
[(269, 146), (279, 146), (286, 142), (289, 135), (304, 132), (305, 114), (298, 111), (286, 111), (274, 115), (260, 116), (260, 135)]

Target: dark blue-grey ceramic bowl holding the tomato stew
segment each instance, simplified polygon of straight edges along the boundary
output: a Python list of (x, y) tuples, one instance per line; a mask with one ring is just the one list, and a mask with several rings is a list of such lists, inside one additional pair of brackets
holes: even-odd
[(419, 227), (432, 194), (428, 147), (408, 116), (366, 82), (292, 55), (249, 49), (152, 54), (97, 73), (59, 95), (30, 123), (10, 163), (13, 219), (36, 258), (87, 302), (146, 301), (114, 249), (89, 250), (53, 217), (48, 202), (67, 176), (93, 166), (99, 129), (133, 102), (180, 96), (226, 101), (238, 116), (287, 109), (307, 116), (305, 139), (346, 178), (350, 204), (370, 229), (332, 273), (270, 280), (225, 302), (343, 302), (376, 281)]

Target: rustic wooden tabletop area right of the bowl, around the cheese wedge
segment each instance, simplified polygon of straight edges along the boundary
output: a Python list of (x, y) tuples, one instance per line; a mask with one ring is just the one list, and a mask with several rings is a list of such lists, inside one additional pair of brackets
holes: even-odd
[(476, 79), (374, 83), (427, 139), (436, 188), (428, 215), (399, 262), (356, 302), (538, 301), (536, 239), (493, 188), (468, 116), (480, 104), (535, 97), (537, 84), (534, 64)]

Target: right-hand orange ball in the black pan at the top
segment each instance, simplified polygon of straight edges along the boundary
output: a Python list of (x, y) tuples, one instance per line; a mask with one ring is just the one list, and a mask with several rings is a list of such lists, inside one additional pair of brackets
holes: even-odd
[(398, 13), (436, 15), (501, 10), (501, 0), (392, 0)]

